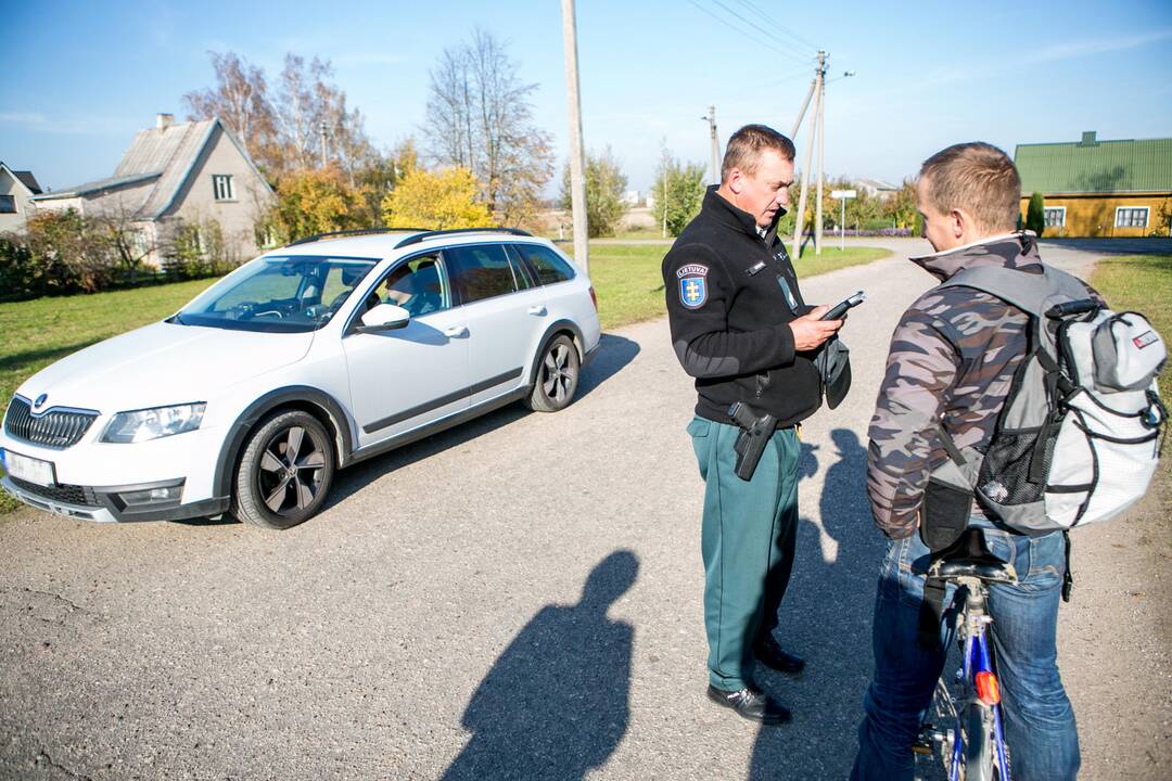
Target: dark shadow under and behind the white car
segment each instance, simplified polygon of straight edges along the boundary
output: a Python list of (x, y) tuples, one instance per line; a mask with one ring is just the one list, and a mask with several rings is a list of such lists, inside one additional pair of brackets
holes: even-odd
[[(639, 355), (639, 344), (614, 334), (602, 334), (598, 352), (590, 365), (582, 369), (578, 382), (574, 403), (595, 391), (602, 383), (621, 371)], [(522, 403), (510, 404), (489, 412), (458, 426), (441, 431), (410, 445), (395, 448), (384, 455), (379, 455), (360, 465), (340, 472), (334, 479), (334, 487), (322, 511), (345, 501), (357, 493), (376, 478), (394, 472), (401, 467), (421, 461), (445, 450), (458, 447), (477, 437), (496, 431), (529, 415), (529, 409)]]

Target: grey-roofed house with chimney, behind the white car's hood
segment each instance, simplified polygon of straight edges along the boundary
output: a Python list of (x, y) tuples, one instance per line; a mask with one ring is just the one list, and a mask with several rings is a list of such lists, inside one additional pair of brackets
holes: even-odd
[(156, 116), (139, 130), (114, 174), (35, 196), (38, 208), (74, 208), (82, 214), (127, 220), (159, 265), (180, 225), (214, 220), (229, 252), (241, 260), (259, 251), (255, 225), (273, 203), (272, 187), (239, 139), (219, 119), (176, 123)]

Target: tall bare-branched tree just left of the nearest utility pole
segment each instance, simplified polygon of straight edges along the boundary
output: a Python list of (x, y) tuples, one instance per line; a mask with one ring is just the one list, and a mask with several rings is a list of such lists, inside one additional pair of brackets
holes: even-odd
[(505, 44), (481, 29), (444, 49), (429, 75), (423, 135), (430, 157), (471, 171), (502, 222), (531, 217), (553, 176), (551, 137), (533, 124), (537, 84), (523, 83)]

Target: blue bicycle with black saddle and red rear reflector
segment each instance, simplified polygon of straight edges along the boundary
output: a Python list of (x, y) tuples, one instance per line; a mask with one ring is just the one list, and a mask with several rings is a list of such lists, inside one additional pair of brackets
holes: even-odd
[[(981, 556), (936, 560), (928, 577), (956, 585), (953, 605), (959, 605), (949, 628), (956, 638), (961, 666), (948, 685), (941, 673), (913, 752), (917, 777), (924, 766), (942, 765), (949, 781), (1010, 781), (1009, 748), (1001, 720), (1001, 687), (996, 660), (989, 644), (988, 583), (1016, 583), (1013, 566)], [(947, 643), (946, 643), (947, 646)]]

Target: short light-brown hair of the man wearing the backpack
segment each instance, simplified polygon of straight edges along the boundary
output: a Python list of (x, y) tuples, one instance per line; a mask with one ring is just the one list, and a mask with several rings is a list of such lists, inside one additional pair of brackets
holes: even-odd
[(920, 166), (928, 203), (941, 214), (962, 208), (986, 231), (1013, 231), (1021, 214), (1022, 180), (1009, 156), (984, 142), (953, 144)]

